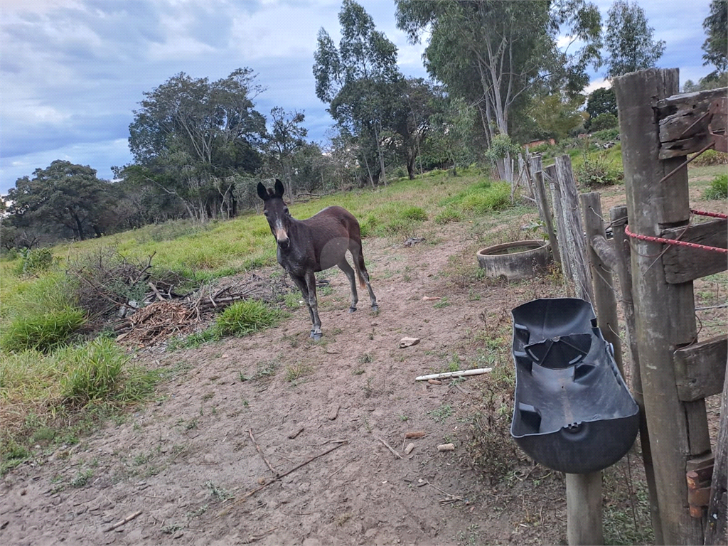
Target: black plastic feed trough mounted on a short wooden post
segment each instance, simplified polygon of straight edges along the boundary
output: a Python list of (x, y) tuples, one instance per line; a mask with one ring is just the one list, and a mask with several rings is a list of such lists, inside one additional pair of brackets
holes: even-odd
[(629, 451), (639, 408), (612, 351), (587, 301), (537, 299), (513, 309), (510, 434), (535, 461), (587, 474)]

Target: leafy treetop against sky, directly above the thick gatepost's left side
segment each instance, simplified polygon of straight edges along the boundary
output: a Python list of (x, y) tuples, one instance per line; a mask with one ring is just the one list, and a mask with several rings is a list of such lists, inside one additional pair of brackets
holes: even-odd
[(615, 78), (652, 68), (665, 51), (665, 41), (654, 41), (654, 28), (647, 25), (644, 9), (637, 3), (617, 0), (609, 8), (604, 44), (606, 76)]

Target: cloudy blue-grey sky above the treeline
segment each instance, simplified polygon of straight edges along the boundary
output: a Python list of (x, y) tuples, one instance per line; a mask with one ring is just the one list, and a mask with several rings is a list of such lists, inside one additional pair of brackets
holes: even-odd
[[(527, 1), (527, 0), (524, 0)], [(408, 44), (392, 0), (359, 0), (398, 50), (405, 76), (427, 77), (425, 44)], [(611, 0), (595, 2), (603, 23)], [(666, 42), (660, 68), (697, 81), (710, 0), (638, 0), (654, 39)], [(249, 67), (266, 91), (256, 110), (303, 111), (312, 141), (333, 125), (316, 97), (312, 66), (325, 28), (339, 44), (340, 0), (1, 0), (0, 194), (55, 159), (113, 178), (132, 161), (127, 146), (143, 93), (184, 72), (210, 82)], [(604, 85), (593, 74), (587, 90)]]

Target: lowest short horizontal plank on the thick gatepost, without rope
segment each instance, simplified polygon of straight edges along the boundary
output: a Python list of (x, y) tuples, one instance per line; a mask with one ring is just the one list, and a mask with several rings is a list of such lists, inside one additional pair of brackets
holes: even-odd
[(675, 379), (680, 400), (692, 402), (720, 394), (727, 359), (725, 336), (676, 350)]

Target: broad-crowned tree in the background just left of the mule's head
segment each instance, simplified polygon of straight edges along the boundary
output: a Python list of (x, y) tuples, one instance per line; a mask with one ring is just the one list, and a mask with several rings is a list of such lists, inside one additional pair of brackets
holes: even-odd
[(263, 91), (250, 68), (216, 82), (181, 72), (151, 92), (129, 126), (132, 173), (184, 203), (191, 218), (234, 213), (236, 177), (261, 164), (265, 118), (253, 99)]

